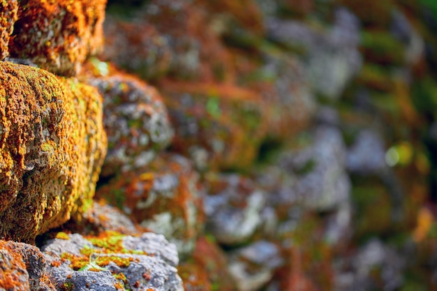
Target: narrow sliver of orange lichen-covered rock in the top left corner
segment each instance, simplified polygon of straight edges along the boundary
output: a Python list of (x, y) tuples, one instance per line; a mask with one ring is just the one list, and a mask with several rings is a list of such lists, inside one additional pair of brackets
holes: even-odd
[(0, 60), (9, 56), (9, 37), (14, 29), (17, 20), (17, 0), (6, 0), (0, 2)]

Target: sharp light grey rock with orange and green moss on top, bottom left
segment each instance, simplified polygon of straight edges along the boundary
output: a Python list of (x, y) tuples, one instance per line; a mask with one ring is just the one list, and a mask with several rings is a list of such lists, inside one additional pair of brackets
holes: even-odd
[(175, 245), (163, 236), (101, 234), (85, 239), (70, 234), (43, 247), (47, 274), (68, 290), (182, 291)]

